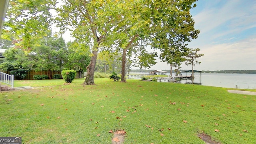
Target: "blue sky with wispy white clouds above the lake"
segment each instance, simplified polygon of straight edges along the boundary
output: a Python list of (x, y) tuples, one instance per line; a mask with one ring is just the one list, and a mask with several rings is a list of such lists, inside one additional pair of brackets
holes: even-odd
[[(200, 30), (188, 48), (200, 48), (195, 70), (256, 70), (256, 0), (198, 0), (190, 10)], [(68, 33), (67, 33), (68, 34)], [(65, 39), (65, 36), (63, 36)], [(68, 40), (69, 41), (69, 40)], [(151, 70), (169, 70), (156, 60)], [(132, 68), (139, 69), (139, 68)], [(182, 63), (182, 70), (192, 66)]]

